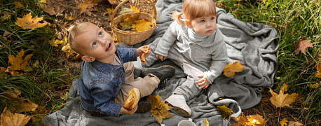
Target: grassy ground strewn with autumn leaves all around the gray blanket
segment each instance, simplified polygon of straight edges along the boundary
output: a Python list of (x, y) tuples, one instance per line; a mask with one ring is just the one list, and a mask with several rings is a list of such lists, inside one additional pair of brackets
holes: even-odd
[[(64, 107), (71, 82), (80, 75), (81, 55), (70, 49), (68, 29), (93, 22), (113, 35), (111, 19), (135, 11), (153, 14), (151, 5), (157, 1), (126, 2), (118, 10), (114, 9), (122, 1), (0, 2), (1, 125), (43, 125), (43, 116)], [(217, 1), (218, 7), (235, 18), (271, 25), (280, 35), (274, 86), (265, 88), (261, 102), (243, 110), (234, 125), (320, 125), (320, 5), (320, 0)], [(118, 27), (139, 30), (132, 28), (134, 18), (128, 20), (132, 21)], [(233, 73), (224, 75), (233, 77)], [(157, 96), (149, 100), (159, 101)], [(153, 108), (153, 116), (157, 116), (155, 110), (170, 109), (164, 106)]]

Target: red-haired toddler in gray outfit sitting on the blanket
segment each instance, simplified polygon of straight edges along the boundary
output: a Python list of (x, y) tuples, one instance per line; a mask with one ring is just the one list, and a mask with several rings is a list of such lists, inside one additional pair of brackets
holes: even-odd
[(212, 0), (186, 0), (182, 12), (172, 13), (172, 19), (175, 21), (144, 65), (168, 58), (183, 69), (187, 80), (165, 101), (179, 115), (189, 117), (191, 109), (186, 101), (221, 74), (227, 61), (226, 45), (217, 29), (216, 6)]

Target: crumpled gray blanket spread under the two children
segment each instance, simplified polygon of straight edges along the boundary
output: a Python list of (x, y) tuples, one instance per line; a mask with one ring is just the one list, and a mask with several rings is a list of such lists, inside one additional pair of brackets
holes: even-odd
[[(158, 41), (168, 29), (172, 20), (170, 13), (172, 10), (182, 10), (183, 1), (179, 0), (158, 0), (156, 10), (158, 13), (157, 28), (149, 39), (142, 43), (132, 45), (136, 48), (141, 45), (150, 44), (155, 48), (154, 42)], [(278, 33), (268, 25), (258, 23), (247, 23), (237, 20), (226, 13), (224, 9), (217, 8), (217, 27), (224, 34), (228, 50), (228, 63), (240, 60), (245, 65), (245, 69), (236, 73), (233, 78), (224, 75), (214, 80), (214, 83), (203, 90), (197, 97), (189, 100), (187, 104), (191, 107), (191, 117), (196, 125), (203, 125), (205, 119), (210, 125), (232, 125), (233, 119), (222, 116), (217, 110), (217, 106), (225, 105), (234, 113), (232, 116), (240, 116), (242, 109), (248, 109), (257, 105), (261, 100), (263, 87), (272, 87), (274, 73), (278, 68), (275, 51), (278, 49)], [(135, 77), (139, 76), (139, 71), (144, 69), (135, 62)], [(157, 61), (151, 67), (164, 64), (175, 66), (175, 75), (162, 83), (153, 95), (160, 95), (165, 99), (172, 94), (178, 85), (186, 80), (182, 69), (170, 60), (164, 62)], [(60, 110), (48, 114), (43, 118), (43, 123), (49, 125), (159, 125), (148, 113), (135, 113), (133, 115), (124, 114), (121, 117), (92, 116), (81, 107), (77, 95), (78, 80), (74, 80), (69, 90), (69, 100), (66, 106)], [(224, 98), (218, 100), (218, 98)], [(173, 110), (172, 118), (163, 119), (163, 124), (177, 125), (180, 120), (186, 120), (177, 115)]]

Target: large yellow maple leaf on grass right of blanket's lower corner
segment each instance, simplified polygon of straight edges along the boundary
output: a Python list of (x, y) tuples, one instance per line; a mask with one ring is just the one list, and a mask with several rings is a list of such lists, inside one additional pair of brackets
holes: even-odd
[(295, 101), (298, 94), (283, 94), (283, 91), (280, 90), (280, 94), (276, 94), (273, 92), (273, 90), (270, 88), (270, 92), (272, 94), (272, 97), (270, 98), (271, 103), (276, 107), (283, 107), (283, 106), (289, 106), (289, 104), (292, 104), (292, 102)]

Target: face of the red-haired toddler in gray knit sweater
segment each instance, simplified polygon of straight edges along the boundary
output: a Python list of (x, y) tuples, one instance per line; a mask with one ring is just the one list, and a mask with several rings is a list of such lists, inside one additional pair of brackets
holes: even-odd
[(203, 36), (210, 36), (217, 28), (217, 20), (215, 15), (207, 17), (196, 18), (191, 21), (191, 29), (196, 31), (197, 34)]

